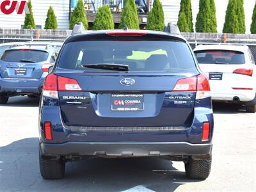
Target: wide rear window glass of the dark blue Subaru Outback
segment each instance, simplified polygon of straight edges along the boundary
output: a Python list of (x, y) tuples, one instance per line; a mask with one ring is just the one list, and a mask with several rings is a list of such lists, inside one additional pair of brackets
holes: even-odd
[(84, 68), (100, 63), (129, 65), (134, 72), (197, 72), (193, 54), (184, 42), (97, 40), (70, 42), (61, 52), (58, 67), (85, 71), (104, 69)]

